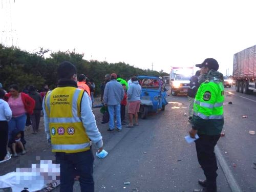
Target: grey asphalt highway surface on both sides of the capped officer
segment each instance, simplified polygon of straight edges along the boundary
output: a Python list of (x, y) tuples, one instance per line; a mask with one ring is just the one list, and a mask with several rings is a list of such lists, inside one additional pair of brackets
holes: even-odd
[[(218, 154), (224, 162), (219, 164), (218, 191), (229, 192), (234, 185), (238, 185), (240, 191), (256, 191), (256, 169), (253, 168), (256, 168), (253, 165), (256, 162), (256, 136), (249, 134), (249, 131), (256, 131), (256, 94), (236, 93), (234, 88), (225, 90), (225, 137), (221, 137), (217, 144)], [(191, 126), (184, 115), (187, 113), (187, 97), (169, 96), (167, 100), (169, 104), (165, 111), (150, 114), (146, 120), (139, 119), (139, 126), (123, 127), (122, 132), (114, 133), (106, 132), (108, 124), (100, 123), (99, 109), (94, 109), (104, 149), (109, 152), (104, 159), (95, 157), (95, 191), (193, 191), (201, 188), (197, 181), (204, 179), (204, 175), (197, 161), (195, 144), (187, 144), (184, 140)], [(229, 101), (232, 104), (228, 104)], [(95, 146), (93, 150), (95, 153)], [(53, 158), (50, 148), (45, 147), (43, 151), (28, 152), (19, 161), (29, 167), (35, 154), (41, 159)], [(12, 169), (16, 166), (11, 161), (5, 165), (0, 165), (1, 175), (10, 172), (11, 165)], [(124, 182), (130, 184), (124, 185)], [(80, 191), (79, 182), (75, 182), (74, 191)]]

